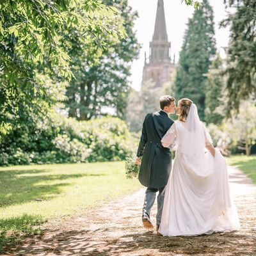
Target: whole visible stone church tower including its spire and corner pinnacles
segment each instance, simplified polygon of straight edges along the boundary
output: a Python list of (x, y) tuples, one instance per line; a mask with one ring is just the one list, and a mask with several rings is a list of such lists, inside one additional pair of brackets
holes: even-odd
[[(164, 16), (164, 2), (157, 0), (157, 12), (154, 35), (150, 42), (150, 56), (143, 68), (143, 82), (152, 79), (156, 87), (163, 87), (163, 84), (170, 81), (170, 74), (175, 69), (174, 58), (170, 58), (171, 43), (168, 42), (166, 33), (166, 22)], [(172, 62), (171, 62), (172, 61)]]

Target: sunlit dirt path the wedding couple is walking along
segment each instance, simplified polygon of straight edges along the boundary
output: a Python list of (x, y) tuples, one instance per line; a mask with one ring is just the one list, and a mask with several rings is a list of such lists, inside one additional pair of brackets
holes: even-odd
[[(141, 225), (145, 189), (94, 209), (86, 216), (44, 225), (33, 237), (6, 255), (256, 255), (256, 186), (229, 168), (230, 188), (241, 220), (241, 230), (195, 237), (163, 237)], [(152, 220), (156, 220), (156, 206)]]

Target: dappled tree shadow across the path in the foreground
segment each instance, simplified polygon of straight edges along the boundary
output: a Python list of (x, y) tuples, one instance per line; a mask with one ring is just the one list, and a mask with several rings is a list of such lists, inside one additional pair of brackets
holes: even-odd
[[(116, 238), (102, 237), (102, 232), (113, 231), (115, 230), (104, 228), (95, 231), (58, 232), (44, 239), (40, 244), (30, 241), (23, 251), (15, 255), (255, 255), (256, 253), (255, 234), (248, 236), (239, 232), (229, 232), (210, 236), (163, 237), (155, 232), (140, 232)], [(98, 239), (95, 240), (95, 237)], [(28, 248), (29, 252), (26, 250)]]

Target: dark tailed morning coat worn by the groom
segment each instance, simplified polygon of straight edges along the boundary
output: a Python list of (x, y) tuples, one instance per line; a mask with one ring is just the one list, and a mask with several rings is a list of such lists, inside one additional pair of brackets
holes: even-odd
[(173, 124), (164, 111), (147, 114), (143, 122), (137, 156), (142, 156), (139, 180), (147, 188), (163, 188), (172, 168), (172, 154), (161, 139)]

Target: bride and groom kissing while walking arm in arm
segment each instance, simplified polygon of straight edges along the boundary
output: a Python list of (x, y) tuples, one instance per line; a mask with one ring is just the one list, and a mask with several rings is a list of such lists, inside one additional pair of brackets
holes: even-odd
[[(164, 95), (161, 110), (145, 116), (136, 163), (147, 187), (143, 226), (154, 228), (150, 211), (157, 195), (156, 231), (163, 236), (196, 236), (239, 229), (230, 195), (227, 164), (190, 99)], [(179, 116), (177, 121), (169, 114)], [(172, 153), (175, 159), (172, 164)]]

